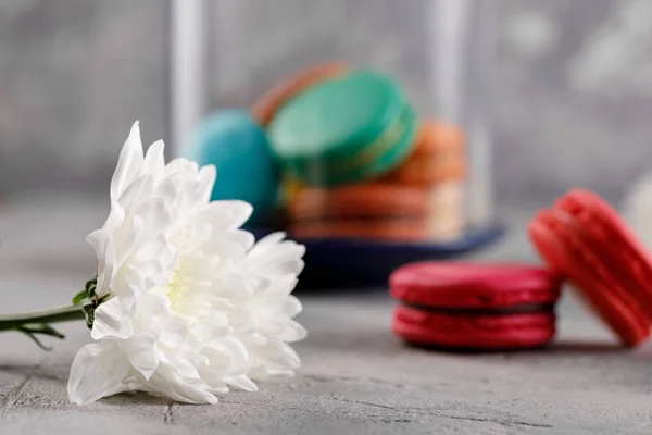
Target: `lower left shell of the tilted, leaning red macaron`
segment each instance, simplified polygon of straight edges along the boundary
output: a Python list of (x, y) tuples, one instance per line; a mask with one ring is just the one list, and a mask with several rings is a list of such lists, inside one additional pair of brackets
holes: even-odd
[(614, 283), (594, 252), (577, 234), (573, 220), (559, 211), (541, 211), (528, 233), (547, 262), (576, 284), (580, 296), (627, 346), (650, 334), (650, 321), (626, 291)]

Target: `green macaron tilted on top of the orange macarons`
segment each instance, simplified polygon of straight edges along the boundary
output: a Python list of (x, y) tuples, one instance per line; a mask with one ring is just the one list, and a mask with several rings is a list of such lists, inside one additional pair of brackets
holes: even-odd
[(413, 150), (416, 126), (398, 83), (358, 70), (293, 98), (267, 134), (286, 172), (308, 185), (333, 187), (399, 166)]

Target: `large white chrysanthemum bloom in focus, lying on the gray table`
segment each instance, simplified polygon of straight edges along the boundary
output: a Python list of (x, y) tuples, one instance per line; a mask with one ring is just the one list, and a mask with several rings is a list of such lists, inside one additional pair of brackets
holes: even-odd
[(209, 198), (214, 166), (143, 157), (138, 123), (111, 182), (111, 213), (88, 236), (98, 258), (91, 336), (75, 357), (68, 396), (92, 402), (145, 390), (214, 403), (229, 387), (292, 373), (289, 343), (305, 336), (290, 295), (304, 247), (274, 234), (254, 245), (242, 201)]

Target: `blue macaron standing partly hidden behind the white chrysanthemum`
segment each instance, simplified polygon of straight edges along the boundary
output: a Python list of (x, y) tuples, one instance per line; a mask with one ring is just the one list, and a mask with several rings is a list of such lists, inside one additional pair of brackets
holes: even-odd
[(227, 110), (206, 117), (183, 156), (200, 166), (215, 165), (217, 181), (211, 200), (249, 202), (253, 206), (250, 223), (271, 219), (277, 202), (279, 170), (265, 130), (247, 111)]

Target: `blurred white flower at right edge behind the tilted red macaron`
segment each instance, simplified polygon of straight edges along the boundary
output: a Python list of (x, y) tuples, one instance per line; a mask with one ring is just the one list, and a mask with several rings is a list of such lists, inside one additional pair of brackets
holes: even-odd
[(648, 249), (652, 249), (652, 174), (643, 176), (628, 189), (623, 215)]

